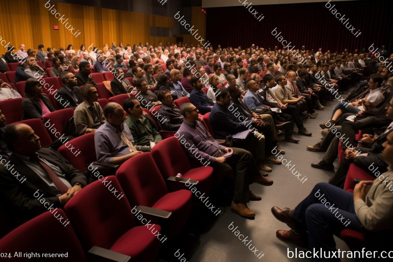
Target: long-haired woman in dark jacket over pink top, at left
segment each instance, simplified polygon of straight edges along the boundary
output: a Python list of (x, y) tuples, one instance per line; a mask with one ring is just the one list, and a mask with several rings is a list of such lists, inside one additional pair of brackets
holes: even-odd
[(25, 86), (25, 99), (22, 101), (23, 120), (40, 118), (56, 111), (49, 98), (42, 95), (42, 85), (34, 78), (29, 78)]

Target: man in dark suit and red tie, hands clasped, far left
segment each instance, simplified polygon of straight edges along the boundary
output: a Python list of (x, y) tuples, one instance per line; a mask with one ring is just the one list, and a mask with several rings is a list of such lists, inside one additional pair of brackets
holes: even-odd
[(0, 192), (18, 217), (60, 208), (87, 184), (57, 151), (41, 148), (30, 126), (8, 125), (4, 138), (12, 154), (0, 160)]

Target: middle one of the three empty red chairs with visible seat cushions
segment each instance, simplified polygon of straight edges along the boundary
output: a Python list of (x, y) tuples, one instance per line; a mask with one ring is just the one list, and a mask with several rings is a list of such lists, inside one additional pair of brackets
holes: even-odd
[(149, 152), (123, 163), (116, 172), (116, 177), (132, 206), (142, 205), (172, 213), (169, 218), (169, 237), (176, 236), (186, 225), (191, 211), (191, 191), (183, 189), (169, 192)]

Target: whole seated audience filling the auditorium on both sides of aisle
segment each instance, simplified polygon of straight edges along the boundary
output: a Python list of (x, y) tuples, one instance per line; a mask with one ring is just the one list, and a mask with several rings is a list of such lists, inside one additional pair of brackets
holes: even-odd
[[(169, 42), (156, 48), (140, 43), (102, 50), (82, 45), (77, 52), (72, 45), (65, 51), (44, 50), (39, 45), (38, 51), (26, 52), (20, 45), (17, 57), (12, 50), (5, 54), (7, 63), (21, 63), (13, 83), (0, 79), (0, 101), (21, 98), (14, 84), (26, 81), (23, 120), (43, 120), (56, 111), (48, 98), (53, 96), (58, 110), (74, 110), (65, 128), (73, 131), (67, 134), (70, 140), (95, 133), (91, 148), (96, 163), (115, 169), (175, 136), (193, 166), (201, 166), (195, 161), (198, 155), (213, 168), (213, 176), (227, 180), (220, 190), (231, 190), (231, 210), (247, 218), (255, 217), (248, 203), (262, 199), (249, 185), (271, 186), (267, 176), (273, 168), (268, 164), (281, 164), (286, 153), (280, 144), (299, 143), (296, 135), (312, 136), (305, 123), (337, 98), (331, 119), (320, 124), (323, 139), (307, 149), (326, 151), (312, 164), (315, 168), (334, 170), (337, 156), (343, 158), (329, 184), (318, 183), (295, 209), (272, 208), (273, 215), (291, 227), (278, 230), (277, 236), (310, 250), (335, 250), (333, 234), (342, 229), (380, 232), (393, 226), (391, 189), (369, 168), (378, 166), (386, 178), (393, 164), (393, 78), (376, 53), (345, 49), (323, 54), (303, 46), (295, 58), (286, 49), (255, 45), (213, 50)], [(104, 89), (115, 98), (125, 96), (121, 104), (110, 101), (101, 107), (101, 83), (94, 81), (92, 70), (113, 74), (113, 80), (103, 82)], [(50, 76), (59, 77), (62, 86), (46, 94), (42, 78)], [(0, 128), (1, 159), (27, 178), (20, 183), (0, 161), (1, 194), (11, 216), (26, 221), (46, 211), (34, 197), (36, 191), (61, 208), (91, 182), (53, 150), (56, 143), (41, 147), (29, 125), (7, 124), (0, 111)], [(353, 193), (342, 189), (351, 164), (374, 180), (360, 182)], [(228, 172), (233, 179), (225, 176)], [(314, 197), (317, 192), (335, 203), (351, 225), (339, 223)]]

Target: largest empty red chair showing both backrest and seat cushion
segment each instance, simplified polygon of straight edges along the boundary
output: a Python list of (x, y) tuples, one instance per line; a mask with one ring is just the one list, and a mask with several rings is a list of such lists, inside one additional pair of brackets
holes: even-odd
[(161, 227), (136, 226), (122, 192), (115, 176), (95, 181), (71, 198), (64, 206), (65, 213), (85, 249), (97, 246), (128, 255), (131, 261), (156, 261), (160, 241), (155, 234)]

